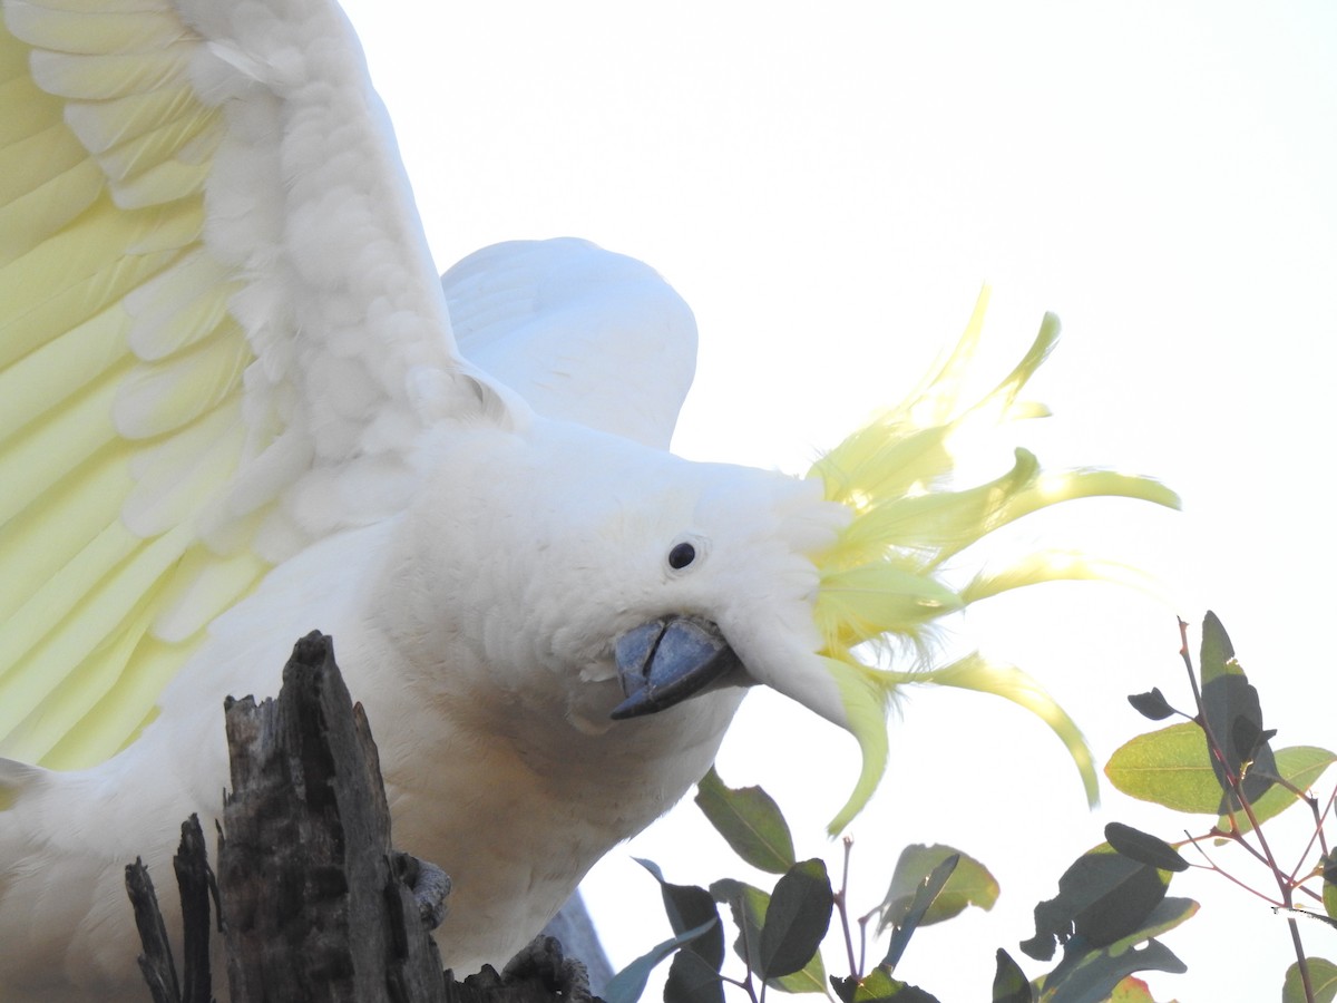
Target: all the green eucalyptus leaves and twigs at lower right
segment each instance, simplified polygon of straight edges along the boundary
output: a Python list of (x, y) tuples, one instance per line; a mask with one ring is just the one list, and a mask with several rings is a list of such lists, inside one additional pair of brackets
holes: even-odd
[[(1324, 830), (1337, 790), (1322, 806), (1306, 793), (1337, 754), (1314, 746), (1273, 748), (1277, 733), (1263, 728), (1258, 691), (1214, 614), (1202, 626), (1197, 673), (1182, 622), (1181, 634), (1195, 713), (1177, 710), (1159, 687), (1128, 697), (1151, 721), (1183, 719), (1126, 742), (1110, 758), (1106, 776), (1126, 794), (1213, 821), (1206, 832), (1177, 844), (1108, 824), (1104, 843), (1078, 857), (1059, 877), (1058, 895), (1036, 905), (1035, 935), (1020, 943), (1028, 958), (1050, 963), (1058, 955), (1058, 963), (1027, 978), (1000, 948), (993, 1003), (1154, 1003), (1136, 974), (1186, 971), (1158, 937), (1198, 911), (1191, 899), (1167, 895), (1171, 879), (1187, 871), (1221, 873), (1290, 915), (1296, 963), (1285, 974), (1284, 1003), (1337, 998), (1337, 964), (1308, 958), (1296, 923), (1305, 916), (1337, 927), (1337, 853)], [(1286, 868), (1262, 825), (1297, 802), (1313, 813), (1314, 833), (1298, 861)], [(989, 909), (999, 895), (993, 876), (968, 855), (951, 847), (912, 845), (902, 851), (881, 901), (852, 917), (849, 839), (841, 883), (833, 888), (824, 861), (797, 860), (789, 825), (766, 792), (730, 789), (711, 770), (701, 781), (697, 804), (742, 860), (779, 877), (770, 892), (735, 879), (709, 888), (678, 885), (666, 881), (656, 865), (640, 861), (660, 884), (675, 936), (619, 974), (606, 994), (608, 1003), (634, 1003), (650, 968), (670, 956), (666, 1003), (723, 1003), (726, 984), (751, 1003), (763, 1003), (767, 991), (826, 992), (838, 1003), (935, 1003), (928, 990), (896, 978), (915, 932), (972, 905)], [(1213, 841), (1237, 844), (1262, 861), (1275, 893), (1250, 888), (1223, 871), (1203, 849), (1203, 843)], [(1205, 863), (1187, 860), (1181, 853), (1186, 847)], [(1297, 896), (1310, 907), (1297, 908)], [(729, 907), (738, 929), (733, 951), (743, 963), (741, 979), (723, 974), (719, 905)], [(842, 935), (848, 975), (828, 975), (820, 952), (833, 921)], [(869, 967), (870, 924), (874, 937), (888, 932), (889, 937), (886, 951)]]

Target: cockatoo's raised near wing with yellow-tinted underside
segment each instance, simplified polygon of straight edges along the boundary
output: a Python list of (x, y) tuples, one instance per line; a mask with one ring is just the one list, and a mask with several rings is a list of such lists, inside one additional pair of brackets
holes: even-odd
[(505, 409), (332, 3), (0, 3), (0, 756), (74, 768), (397, 511), (420, 429)]

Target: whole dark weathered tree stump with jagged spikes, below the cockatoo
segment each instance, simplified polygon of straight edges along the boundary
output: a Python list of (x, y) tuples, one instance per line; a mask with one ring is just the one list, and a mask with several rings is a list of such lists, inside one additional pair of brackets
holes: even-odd
[(380, 758), (330, 638), (297, 642), (278, 699), (229, 699), (233, 793), (218, 884), (194, 817), (175, 859), (185, 917), (185, 992), (139, 864), (126, 881), (154, 1003), (207, 1003), (210, 891), (221, 913), (233, 1003), (586, 1003), (584, 966), (537, 937), (497, 975), (441, 971), (431, 929), (449, 879), (390, 848)]

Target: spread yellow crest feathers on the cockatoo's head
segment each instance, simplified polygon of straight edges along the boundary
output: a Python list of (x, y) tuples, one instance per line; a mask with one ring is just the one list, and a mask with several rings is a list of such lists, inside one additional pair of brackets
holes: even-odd
[[(939, 618), (1001, 591), (1064, 579), (1138, 580), (1136, 572), (1120, 564), (1043, 551), (952, 587), (943, 574), (945, 562), (999, 527), (1048, 506), (1098, 495), (1178, 507), (1174, 492), (1151, 479), (1094, 468), (1047, 473), (1021, 448), (1011, 469), (993, 480), (959, 483), (956, 453), (972, 433), (1048, 413), (1020, 395), (1058, 342), (1059, 324), (1052, 316), (1005, 378), (979, 399), (963, 400), (987, 302), (988, 289), (955, 349), (902, 404), (850, 435), (808, 475), (821, 480), (829, 500), (852, 511), (836, 543), (818, 559), (814, 614), (824, 662), (864, 757), (854, 792), (832, 822), (833, 833), (858, 813), (885, 770), (885, 714), (897, 687), (906, 683), (972, 689), (1027, 707), (1060, 737), (1087, 796), (1095, 798), (1095, 772), (1080, 732), (1019, 669), (972, 654), (948, 666), (893, 671), (877, 658), (884, 649), (906, 645), (925, 658)], [(896, 641), (904, 643), (888, 647)]]

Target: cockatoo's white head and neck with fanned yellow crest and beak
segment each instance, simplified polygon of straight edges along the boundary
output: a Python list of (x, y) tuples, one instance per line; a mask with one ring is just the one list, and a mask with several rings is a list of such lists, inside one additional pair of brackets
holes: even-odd
[[(480, 444), (480, 469), (461, 477), (471, 460), (460, 455), (461, 439), (452, 439), (456, 455), (443, 469), (455, 473), (443, 475), (429, 504), (433, 519), (449, 514), (457, 522), (416, 534), (418, 556), (451, 595), (439, 586), (417, 592), (440, 596), (424, 618), (437, 615), (437, 634), (468, 634), (481, 651), (479, 665), (523, 666), (511, 677), (525, 681), (517, 701), (547, 707), (562, 701), (564, 717), (591, 732), (643, 728), (638, 718), (666, 711), (656, 728), (686, 722), (695, 713), (691, 698), (723, 687), (779, 690), (848, 729), (861, 746), (861, 777), (833, 829), (860, 810), (881, 778), (885, 717), (908, 682), (995, 693), (1027, 706), (1059, 733), (1094, 794), (1080, 733), (1029, 677), (979, 655), (943, 666), (896, 658), (929, 651), (923, 642), (936, 622), (977, 599), (1056, 579), (1126, 576), (1126, 568), (1072, 552), (1031, 554), (965, 584), (960, 567), (944, 574), (997, 527), (1092, 495), (1177, 504), (1173, 492), (1144, 477), (1043, 473), (1024, 449), (1001, 476), (963, 484), (956, 469), (963, 439), (1046, 413), (1019, 393), (1058, 337), (1058, 322), (1047, 317), (1012, 373), (963, 401), (981, 321), (983, 298), (932, 378), (801, 479), (689, 463), (543, 421), (505, 445)], [(513, 455), (500, 455), (507, 449)], [(491, 487), (479, 492), (484, 477)], [(511, 542), (489, 542), (491, 530)], [(441, 618), (447, 608), (451, 615)]]

